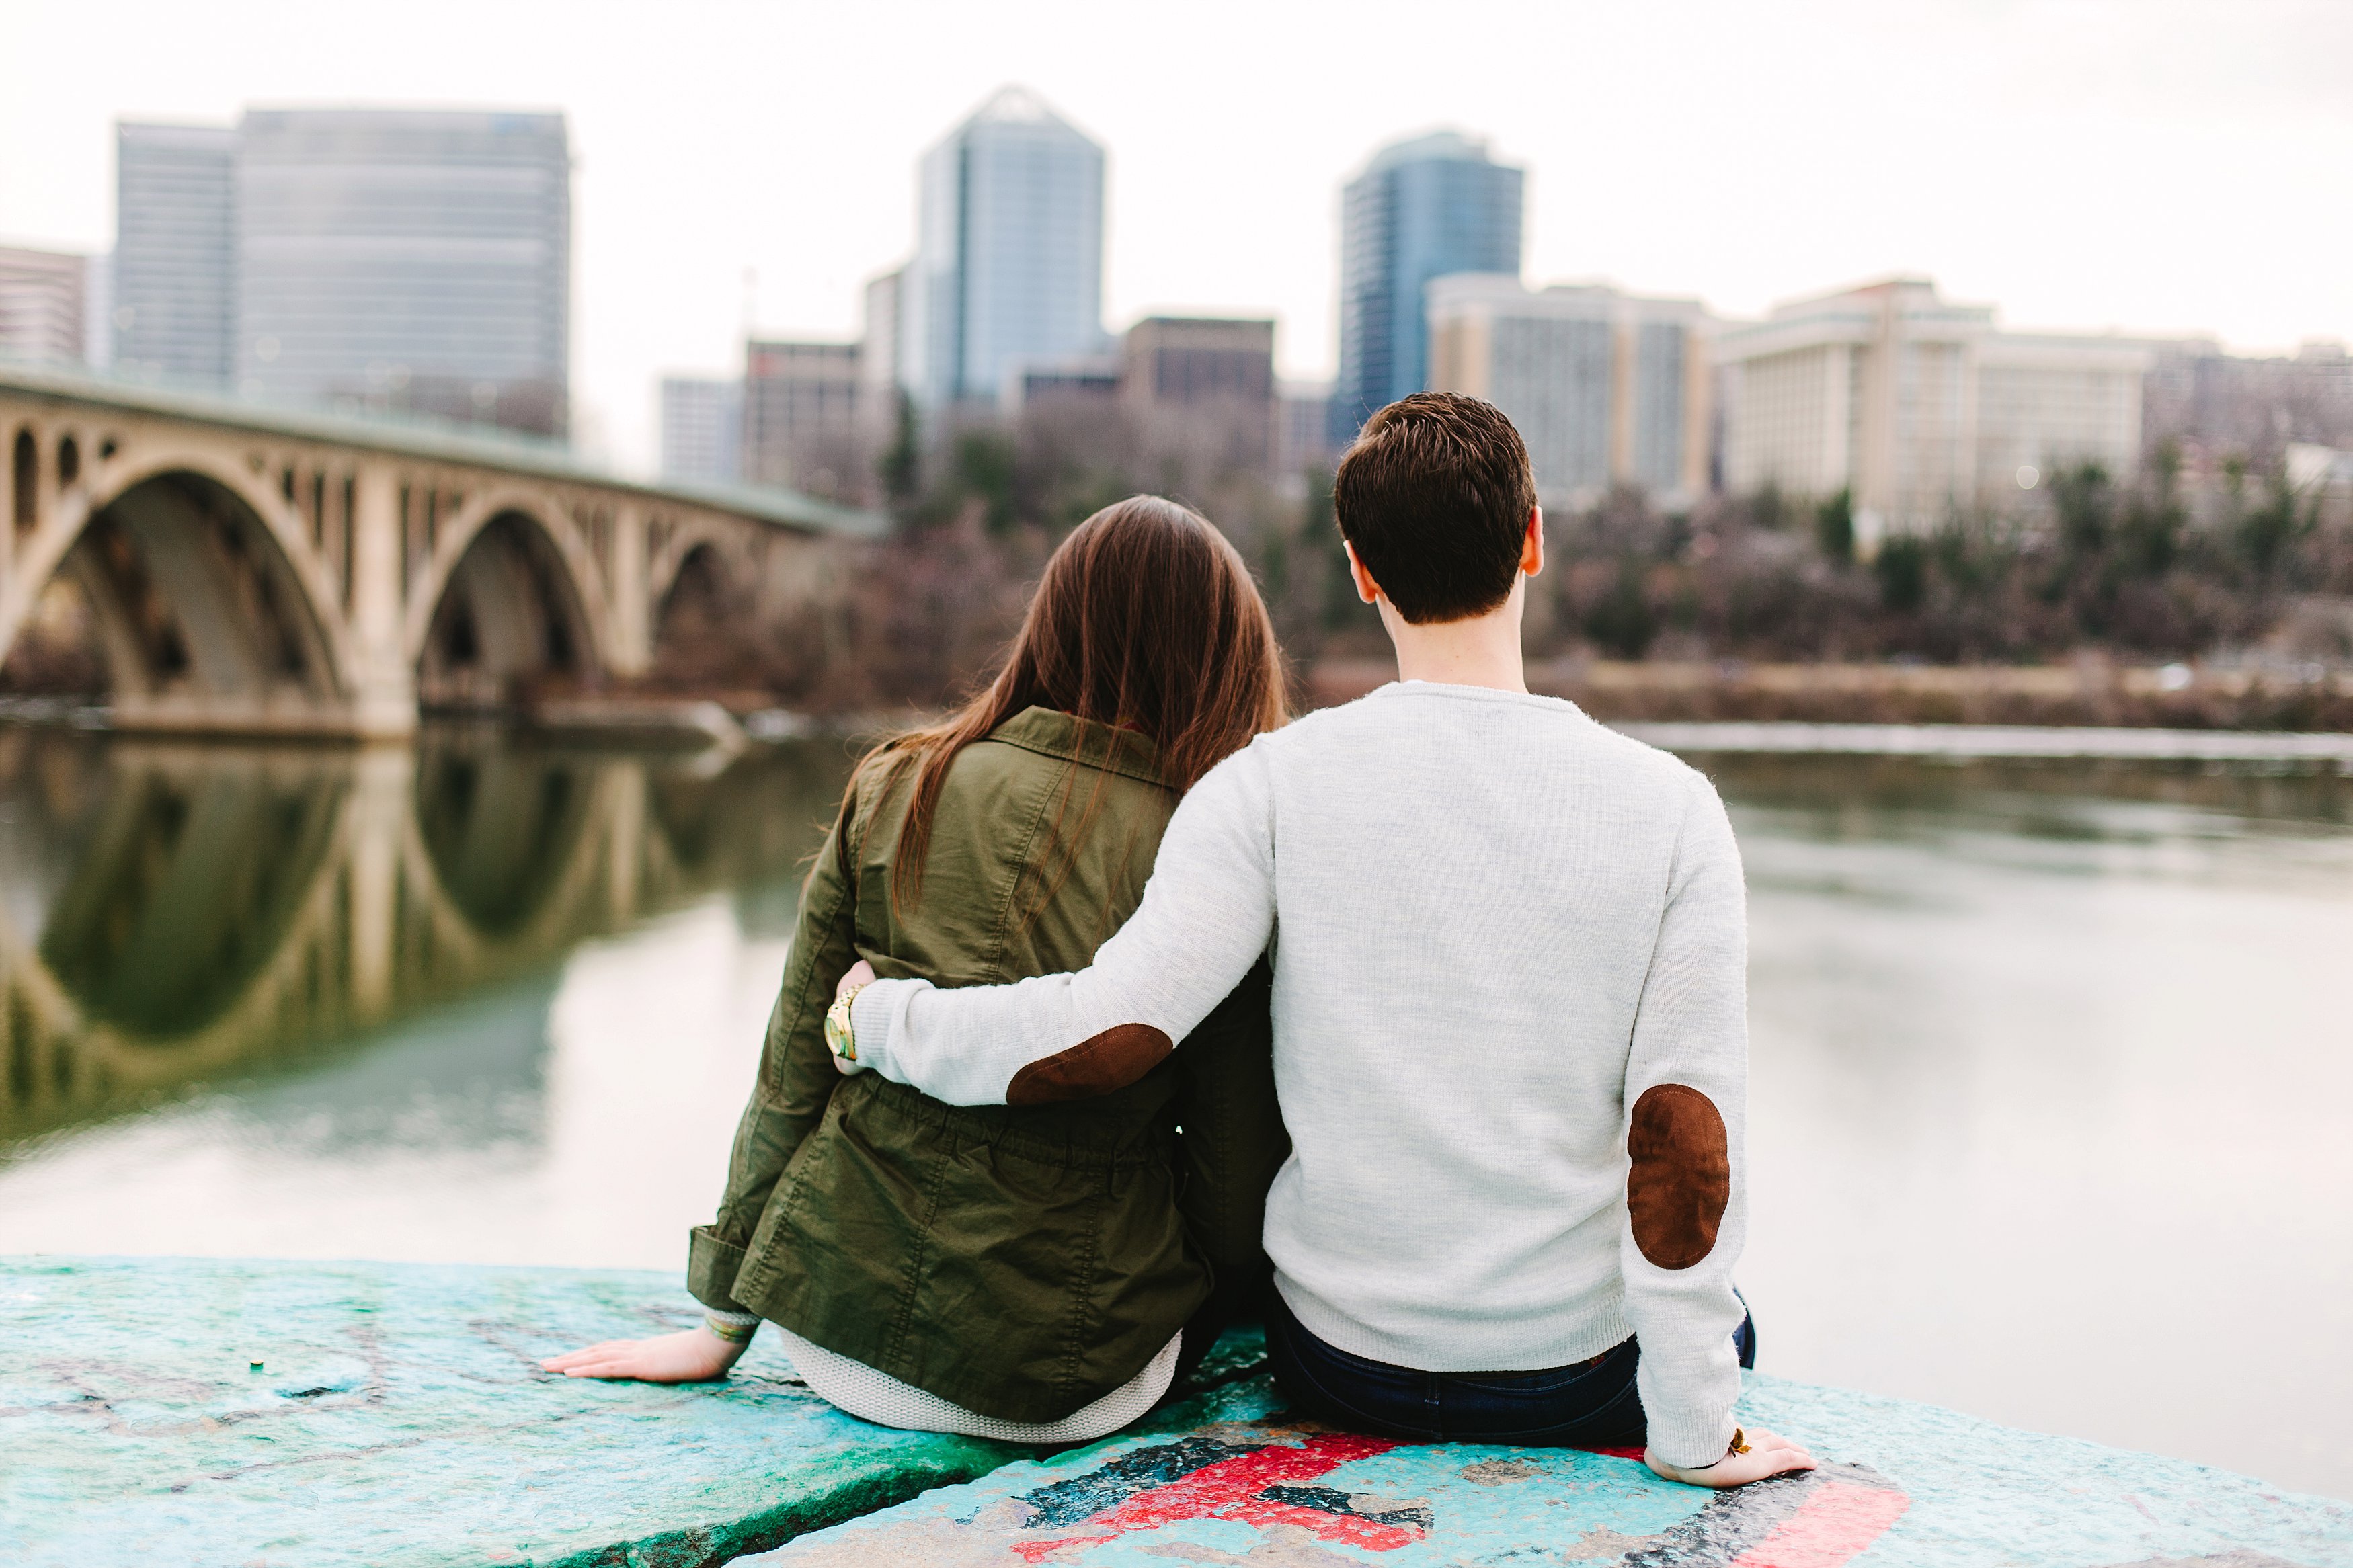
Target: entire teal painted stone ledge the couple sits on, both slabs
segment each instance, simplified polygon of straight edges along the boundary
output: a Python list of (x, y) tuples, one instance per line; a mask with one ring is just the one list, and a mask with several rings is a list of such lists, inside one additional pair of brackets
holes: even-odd
[(1294, 1425), (1245, 1340), (1238, 1380), (1045, 1460), (849, 1420), (772, 1347), (685, 1389), (536, 1368), (689, 1321), (649, 1272), (0, 1260), (0, 1537), (40, 1566), (2353, 1563), (2348, 1505), (1772, 1378), (1744, 1418), (1833, 1465), (1718, 1500)]

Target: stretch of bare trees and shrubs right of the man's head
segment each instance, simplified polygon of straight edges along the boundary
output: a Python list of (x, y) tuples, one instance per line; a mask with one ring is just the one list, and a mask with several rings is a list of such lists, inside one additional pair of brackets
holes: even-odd
[(2325, 602), (2353, 595), (2353, 529), (2245, 465), (2209, 510), (2191, 522), (2167, 451), (2132, 482), (2054, 475), (2042, 515), (1955, 512), (1871, 552), (1845, 494), (1687, 515), (1617, 494), (1548, 529), (1565, 564), (1548, 637), (1614, 658), (2353, 658), (2353, 621)]

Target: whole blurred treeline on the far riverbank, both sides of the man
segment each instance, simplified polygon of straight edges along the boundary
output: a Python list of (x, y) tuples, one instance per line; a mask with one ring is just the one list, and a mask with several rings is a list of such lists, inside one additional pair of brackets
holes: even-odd
[[(1329, 475), (1235, 465), (1214, 430), (1172, 440), (1080, 404), (925, 444), (908, 421), (880, 468), (899, 529), (856, 564), (835, 618), (673, 614), (673, 682), (727, 672), (812, 708), (946, 701), (988, 670), (1054, 543), (1136, 491), (1176, 496), (1233, 538), (1301, 675), (1388, 651), (1348, 583)], [(1619, 661), (2353, 661), (2353, 527), (2247, 463), (2198, 508), (2184, 491), (2160, 449), (2132, 480), (2054, 475), (2035, 515), (1955, 512), (1878, 548), (1857, 538), (1849, 496), (1671, 512), (1614, 491), (1548, 515), (1527, 644)]]

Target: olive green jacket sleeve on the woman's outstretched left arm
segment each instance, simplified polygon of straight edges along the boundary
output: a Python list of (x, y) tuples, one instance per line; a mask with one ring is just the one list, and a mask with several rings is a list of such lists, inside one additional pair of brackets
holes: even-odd
[(800, 889), (800, 917), (793, 924), (793, 947), (784, 959), (784, 985), (767, 1020), (767, 1044), (760, 1048), (760, 1074), (751, 1103), (736, 1124), (734, 1150), (727, 1157), (727, 1192), (718, 1218), (696, 1225), (687, 1239), (687, 1288), (715, 1312), (741, 1314), (734, 1300), (734, 1276), (744, 1267), (744, 1248), (776, 1180), (793, 1161), (802, 1140), (816, 1131), (840, 1074), (826, 1051), (826, 1006), (833, 985), (856, 961), (856, 886), (849, 877), (849, 844), (861, 816), (845, 804), (833, 832), (809, 865)]

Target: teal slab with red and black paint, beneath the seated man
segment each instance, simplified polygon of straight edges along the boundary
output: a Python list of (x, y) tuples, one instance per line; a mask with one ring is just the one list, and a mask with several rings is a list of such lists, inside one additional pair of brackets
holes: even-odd
[(1184, 1432), (1016, 1462), (748, 1563), (774, 1568), (2325, 1568), (2353, 1507), (1894, 1399), (1753, 1378), (1741, 1418), (1826, 1465), (1732, 1493), (1635, 1458), (1402, 1446), (1294, 1422), (1268, 1382)]

